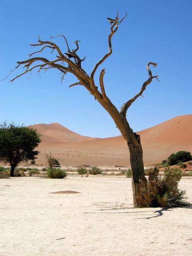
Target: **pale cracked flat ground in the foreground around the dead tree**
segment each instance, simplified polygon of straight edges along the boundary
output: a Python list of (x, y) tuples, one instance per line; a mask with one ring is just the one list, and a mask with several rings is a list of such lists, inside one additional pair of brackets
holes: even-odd
[[(192, 209), (134, 209), (130, 178), (14, 177), (0, 183), (0, 256), (192, 254)], [(180, 188), (192, 202), (192, 178), (182, 178)], [(60, 191), (79, 193), (52, 194)]]

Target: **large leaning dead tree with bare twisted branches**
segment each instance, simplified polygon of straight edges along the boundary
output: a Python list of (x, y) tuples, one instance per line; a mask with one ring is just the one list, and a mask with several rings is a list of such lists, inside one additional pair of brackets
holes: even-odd
[[(130, 128), (130, 125), (126, 119), (126, 112), (131, 104), (139, 96), (142, 96), (142, 93), (146, 89), (146, 86), (148, 86), (148, 84), (152, 82), (153, 78), (158, 79), (158, 76), (152, 76), (152, 72), (150, 70), (150, 65), (155, 67), (157, 64), (153, 62), (149, 62), (147, 64), (146, 68), (148, 71), (148, 79), (143, 83), (140, 92), (138, 92), (138, 94), (136, 94), (133, 98), (124, 103), (120, 111), (118, 111), (118, 109), (112, 104), (112, 102), (106, 95), (103, 80), (105, 69), (102, 69), (100, 72), (100, 89), (98, 88), (98, 86), (96, 86), (94, 80), (94, 74), (96, 70), (98, 70), (99, 66), (106, 60), (106, 58), (108, 58), (112, 54), (112, 36), (116, 33), (116, 31), (118, 30), (118, 26), (122, 23), (126, 16), (127, 14), (125, 14), (125, 16), (119, 21), (117, 13), (115, 22), (110, 27), (110, 34), (108, 36), (109, 51), (95, 64), (90, 75), (86, 73), (81, 65), (82, 61), (85, 60), (85, 57), (81, 59), (77, 54), (80, 41), (74, 41), (76, 48), (74, 50), (70, 50), (66, 37), (60, 34), (58, 36), (62, 36), (64, 38), (66, 42), (66, 47), (68, 49), (68, 54), (63, 54), (60, 48), (55, 43), (50, 41), (42, 41), (40, 40), (40, 38), (38, 38), (38, 44), (31, 44), (31, 46), (41, 46), (42, 48), (36, 52), (29, 54), (30, 58), (28, 60), (17, 62), (18, 66), (16, 66), (15, 69), (18, 68), (20, 65), (23, 65), (26, 69), (24, 72), (10, 80), (10, 82), (13, 82), (15, 79), (19, 78), (24, 74), (31, 73), (34, 69), (38, 69), (37, 72), (40, 73), (40, 71), (42, 70), (46, 72), (48, 69), (56, 68), (62, 74), (61, 82), (67, 72), (70, 72), (71, 74), (76, 76), (77, 82), (71, 84), (69, 88), (78, 85), (84, 86), (90, 92), (90, 94), (94, 96), (95, 100), (97, 100), (102, 105), (102, 107), (110, 114), (117, 128), (120, 130), (122, 136), (127, 142), (130, 151), (130, 163), (132, 168), (132, 190), (134, 207), (139, 208), (143, 206), (142, 203), (138, 200), (138, 196), (141, 193), (140, 187), (143, 186), (143, 184), (146, 184), (147, 180), (144, 176), (143, 152), (140, 142), (140, 136), (136, 134), (136, 132), (133, 132), (133, 130)], [(58, 36), (51, 36), (51, 38), (55, 38)], [(48, 60), (47, 58), (43, 57), (31, 58), (32, 55), (42, 52), (45, 48), (52, 49), (51, 53), (56, 51), (56, 58), (54, 60)]]

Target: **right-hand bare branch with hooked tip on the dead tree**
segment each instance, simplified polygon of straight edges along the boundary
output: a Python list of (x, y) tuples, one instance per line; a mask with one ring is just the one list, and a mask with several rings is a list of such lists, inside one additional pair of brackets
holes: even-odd
[[(130, 100), (128, 100), (126, 103), (124, 103), (121, 107), (121, 110), (120, 110), (120, 115), (122, 117), (126, 117), (126, 112), (128, 110), (128, 108), (131, 106), (131, 104), (139, 97), (139, 96), (142, 96), (142, 93), (144, 92), (144, 90), (146, 89), (146, 87), (148, 86), (148, 84), (150, 84), (150, 82), (152, 81), (153, 78), (156, 78), (158, 80), (158, 76), (152, 76), (152, 72), (149, 68), (149, 65), (153, 65), (153, 67), (156, 67), (157, 66), (157, 63), (154, 63), (154, 62), (149, 62), (147, 65), (146, 65), (146, 68), (147, 68), (147, 71), (148, 71), (148, 74), (149, 74), (149, 78), (148, 80), (146, 80), (143, 85), (142, 85), (142, 88), (140, 90), (140, 92), (138, 94), (136, 94), (133, 98), (131, 98)], [(159, 81), (159, 80), (158, 80)]]

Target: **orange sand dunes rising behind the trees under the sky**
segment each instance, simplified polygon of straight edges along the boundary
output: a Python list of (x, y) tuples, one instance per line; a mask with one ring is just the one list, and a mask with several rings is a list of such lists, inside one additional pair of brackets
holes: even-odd
[[(137, 132), (141, 137), (144, 165), (161, 162), (179, 150), (192, 152), (191, 126), (192, 114), (188, 114)], [(46, 164), (45, 152), (52, 152), (61, 165), (130, 166), (128, 146), (122, 136), (91, 138), (58, 123), (30, 127), (42, 134), (38, 164)]]

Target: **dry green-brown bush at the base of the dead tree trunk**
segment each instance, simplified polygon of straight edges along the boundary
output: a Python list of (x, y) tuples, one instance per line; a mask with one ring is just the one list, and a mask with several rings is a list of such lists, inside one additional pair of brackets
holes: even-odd
[(178, 168), (167, 168), (165, 176), (160, 177), (158, 168), (150, 172), (148, 182), (142, 182), (138, 200), (144, 207), (190, 206), (186, 202), (186, 191), (178, 189), (182, 173)]

